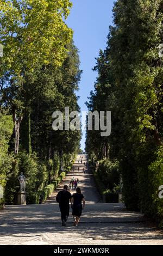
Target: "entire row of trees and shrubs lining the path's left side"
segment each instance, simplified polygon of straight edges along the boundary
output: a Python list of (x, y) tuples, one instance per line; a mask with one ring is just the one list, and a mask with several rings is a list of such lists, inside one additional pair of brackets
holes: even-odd
[(69, 0), (0, 0), (0, 204), (16, 203), (21, 172), (27, 203), (38, 203), (79, 149), (79, 131), (52, 129), (54, 111), (80, 111), (78, 50), (64, 22), (71, 6)]

